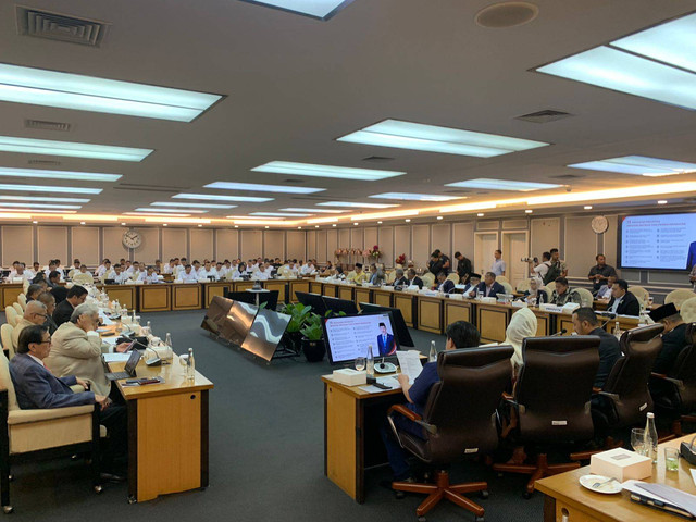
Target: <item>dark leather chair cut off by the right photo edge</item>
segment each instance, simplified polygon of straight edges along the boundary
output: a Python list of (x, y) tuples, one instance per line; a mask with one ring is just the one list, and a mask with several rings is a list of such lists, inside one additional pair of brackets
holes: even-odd
[(672, 433), (683, 435), (682, 422), (696, 422), (696, 323), (686, 326), (687, 345), (667, 374), (650, 375), (650, 395), (660, 417), (672, 421)]

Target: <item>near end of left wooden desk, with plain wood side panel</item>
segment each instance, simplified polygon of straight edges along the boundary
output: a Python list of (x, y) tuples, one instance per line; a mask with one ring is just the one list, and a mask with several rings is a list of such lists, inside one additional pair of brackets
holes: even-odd
[[(123, 371), (124, 362), (110, 364)], [(186, 381), (177, 357), (172, 364), (148, 368), (139, 377), (164, 377), (163, 384), (117, 387), (128, 408), (128, 498), (142, 502), (159, 495), (208, 486), (208, 391), (213, 383), (196, 372)]]

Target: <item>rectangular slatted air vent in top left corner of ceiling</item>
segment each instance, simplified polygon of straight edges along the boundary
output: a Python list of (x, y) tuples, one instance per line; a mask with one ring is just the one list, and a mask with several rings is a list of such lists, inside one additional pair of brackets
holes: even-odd
[(17, 32), (49, 40), (100, 47), (111, 24), (17, 5)]

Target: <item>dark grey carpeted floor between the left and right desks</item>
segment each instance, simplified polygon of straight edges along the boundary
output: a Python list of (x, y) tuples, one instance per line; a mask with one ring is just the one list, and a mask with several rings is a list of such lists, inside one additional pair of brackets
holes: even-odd
[[(79, 462), (51, 461), (13, 469), (12, 505), (16, 520), (148, 520), (380, 522), (415, 520), (421, 496), (396, 500), (378, 483), (388, 468), (366, 477), (366, 499), (358, 505), (323, 474), (323, 389), (320, 375), (330, 364), (298, 359), (266, 365), (223, 346), (199, 328), (204, 312), (144, 314), (156, 335), (172, 334), (174, 349), (196, 351), (197, 368), (215, 383), (210, 395), (210, 487), (204, 492), (161, 497), (128, 505), (126, 485), (91, 492), (87, 469)], [(412, 331), (426, 351), (445, 338)], [(186, 448), (162, 448), (186, 451)], [(526, 478), (498, 477), (482, 464), (457, 464), (452, 481), (487, 480), (490, 496), (481, 500), (487, 521), (539, 521), (543, 498), (522, 499)], [(442, 502), (430, 521), (471, 521), (473, 515)]]

